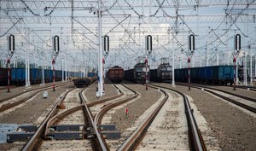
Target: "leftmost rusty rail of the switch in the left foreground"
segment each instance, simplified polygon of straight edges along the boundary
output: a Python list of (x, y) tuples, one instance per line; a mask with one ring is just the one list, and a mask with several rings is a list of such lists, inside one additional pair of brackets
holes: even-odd
[[(72, 89), (74, 90), (74, 89)], [(72, 90), (68, 90), (65, 92), (63, 96), (61, 96), (61, 99), (55, 104), (55, 107), (51, 109), (51, 111), (48, 113), (42, 124), (38, 127), (38, 130), (34, 133), (34, 135), (31, 137), (31, 139), (26, 142), (26, 145), (21, 149), (22, 151), (31, 151), (31, 150), (37, 150), (40, 145), (38, 143), (42, 142), (42, 136), (44, 136), (44, 131), (46, 129), (47, 122), (49, 119), (54, 116), (54, 114), (57, 111), (57, 107), (65, 100), (67, 94), (71, 92)]]

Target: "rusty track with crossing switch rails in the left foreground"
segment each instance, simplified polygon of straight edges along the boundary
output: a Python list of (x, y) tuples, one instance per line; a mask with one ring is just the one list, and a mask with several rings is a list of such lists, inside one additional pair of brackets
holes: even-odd
[[(47, 115), (47, 117), (44, 119), (44, 122), (39, 126), (38, 131), (35, 132), (35, 134), (32, 136), (32, 138), (29, 140), (29, 142), (26, 143), (24, 148), (22, 150), (38, 150), (42, 142), (44, 142), (45, 138), (49, 138), (50, 135), (53, 135), (50, 133), (50, 127), (52, 127), (53, 124), (57, 124), (61, 119), (66, 118), (68, 115), (71, 115), (72, 113), (75, 113), (79, 110), (83, 110), (84, 113), (84, 125), (83, 130), (79, 134), (83, 136), (83, 138), (90, 138), (92, 148), (96, 150), (105, 150), (106, 145), (104, 143), (104, 140), (102, 139), (102, 135), (99, 132), (99, 128), (96, 125), (96, 119), (92, 116), (90, 113), (90, 107), (96, 106), (98, 104), (101, 104), (103, 102), (109, 102), (113, 99), (117, 99), (120, 96), (123, 95), (123, 93), (119, 90), (119, 95), (108, 97), (106, 99), (102, 99), (96, 102), (89, 102), (87, 103), (84, 100), (83, 96), (83, 90), (79, 91), (79, 105), (77, 104), (75, 107), (70, 107), (66, 111), (62, 113), (57, 114), (57, 107), (61, 105), (61, 103), (64, 102), (65, 97), (67, 96), (67, 93), (70, 93), (72, 90), (69, 90), (65, 93), (64, 96), (61, 97), (61, 100), (56, 103), (55, 107), (50, 111), (50, 113)], [(88, 129), (89, 128), (89, 129)], [(90, 130), (90, 131), (88, 131)], [(70, 141), (69, 141), (70, 142)], [(67, 142), (62, 142), (62, 144), (65, 144)]]

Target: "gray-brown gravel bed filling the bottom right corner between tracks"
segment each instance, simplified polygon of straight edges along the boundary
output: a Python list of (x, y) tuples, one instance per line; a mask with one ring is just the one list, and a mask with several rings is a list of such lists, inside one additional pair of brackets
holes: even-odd
[[(170, 84), (163, 84), (170, 86)], [(223, 150), (256, 150), (256, 119), (205, 91), (177, 86), (174, 88), (191, 96), (205, 117)]]

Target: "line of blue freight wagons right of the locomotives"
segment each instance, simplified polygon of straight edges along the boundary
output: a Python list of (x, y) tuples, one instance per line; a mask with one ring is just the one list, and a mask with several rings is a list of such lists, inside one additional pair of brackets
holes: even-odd
[[(177, 82), (188, 82), (188, 68), (175, 69)], [(233, 66), (212, 66), (190, 68), (191, 83), (198, 84), (233, 84)]]

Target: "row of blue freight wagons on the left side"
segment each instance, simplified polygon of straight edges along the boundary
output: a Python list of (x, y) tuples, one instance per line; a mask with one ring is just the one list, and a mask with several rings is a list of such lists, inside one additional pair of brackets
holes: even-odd
[[(40, 84), (42, 83), (43, 71), (38, 68), (30, 68), (30, 83), (31, 84)], [(66, 72), (64, 72), (64, 78), (66, 78)], [(73, 78), (84, 77), (84, 73), (80, 72), (67, 72), (67, 76)], [(62, 71), (55, 70), (55, 81), (61, 81)], [(44, 82), (53, 81), (53, 71), (49, 69), (44, 69)], [(0, 84), (8, 84), (8, 69), (0, 68)], [(11, 68), (10, 69), (10, 84), (15, 85), (25, 85), (26, 84), (26, 70), (25, 68)]]

